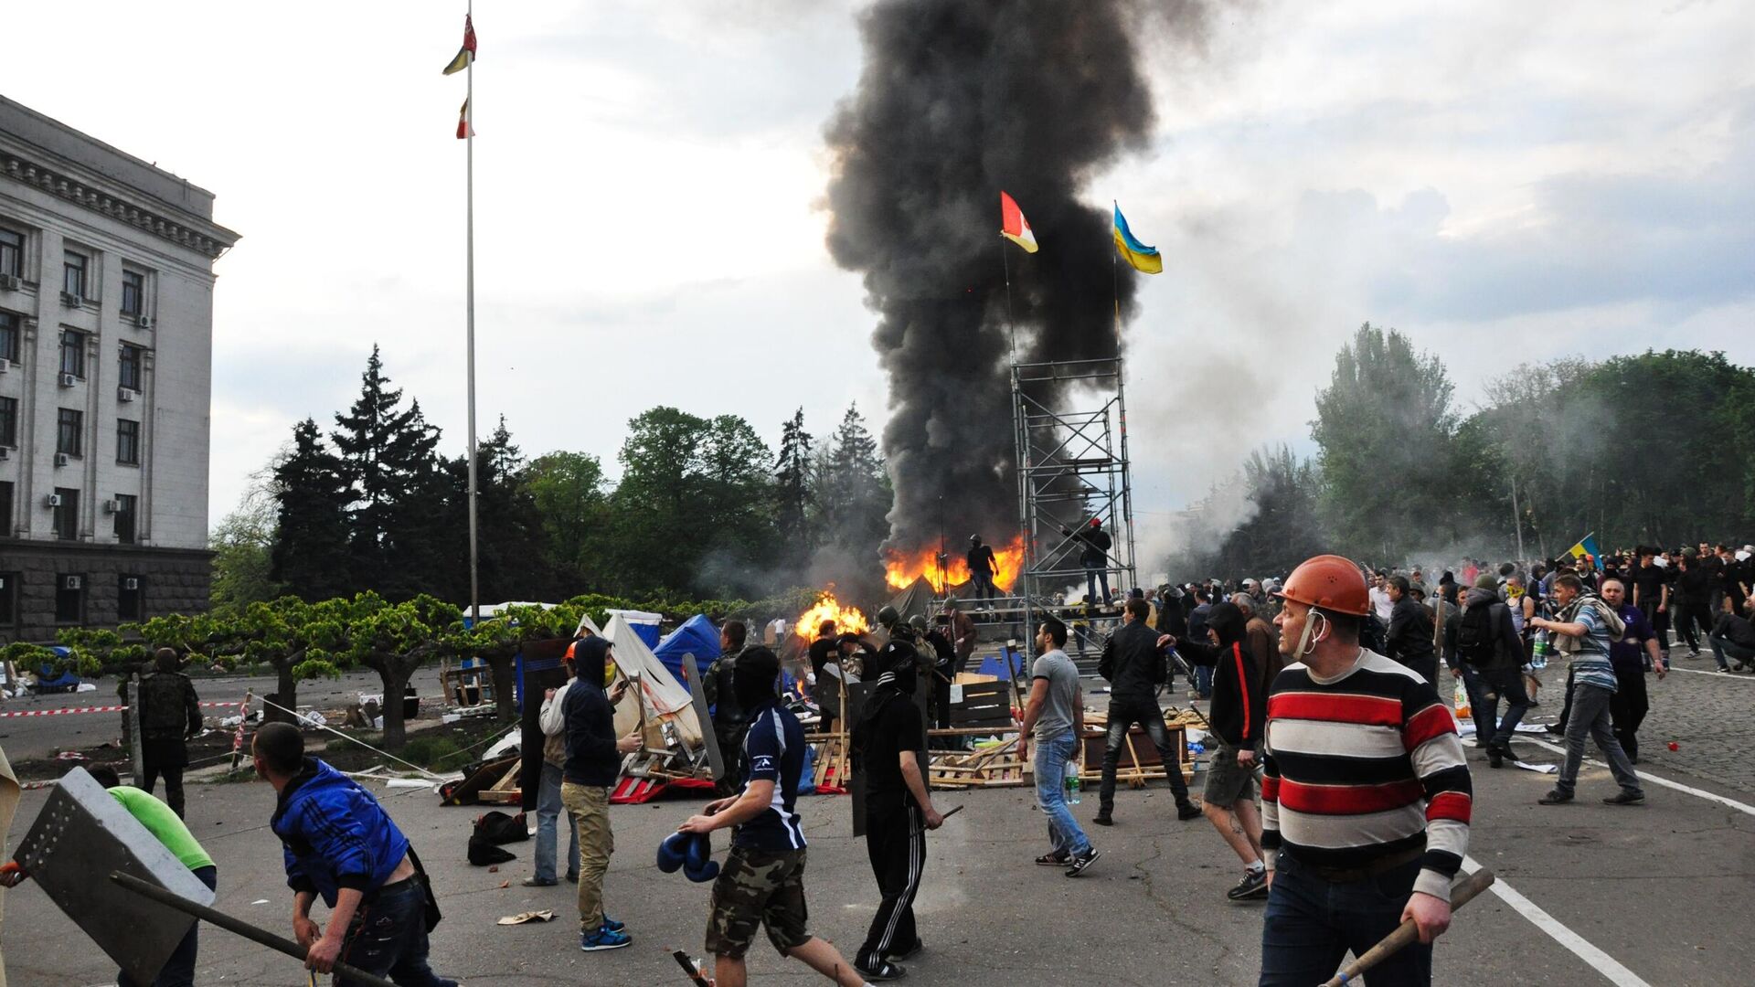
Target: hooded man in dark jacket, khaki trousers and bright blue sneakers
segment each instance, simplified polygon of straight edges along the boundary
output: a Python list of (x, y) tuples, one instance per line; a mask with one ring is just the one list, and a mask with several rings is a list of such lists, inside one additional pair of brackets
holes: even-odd
[(616, 711), (604, 694), (609, 662), (605, 638), (584, 638), (572, 648), (574, 681), (562, 701), (567, 731), (567, 764), (562, 767), (560, 803), (579, 831), (579, 948), (614, 950), (634, 941), (604, 911), (604, 875), (616, 839), (609, 832), (609, 787), (621, 773), (623, 755), (641, 748), (641, 734), (616, 739)]

